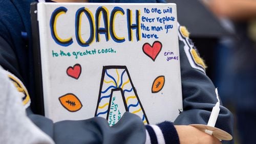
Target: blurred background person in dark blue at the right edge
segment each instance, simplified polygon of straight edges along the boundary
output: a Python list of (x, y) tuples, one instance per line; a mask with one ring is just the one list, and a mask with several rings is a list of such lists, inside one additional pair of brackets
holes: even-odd
[[(216, 86), (224, 105), (234, 106), (240, 143), (255, 143), (256, 129), (256, 1), (204, 0), (234, 37), (217, 46)], [(231, 20), (231, 22), (227, 22)]]

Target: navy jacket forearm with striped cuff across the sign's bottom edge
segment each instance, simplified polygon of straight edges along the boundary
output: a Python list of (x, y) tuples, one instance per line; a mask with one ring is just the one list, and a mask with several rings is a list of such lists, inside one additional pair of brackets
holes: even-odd
[(125, 112), (120, 121), (110, 127), (106, 119), (93, 117), (80, 121), (60, 121), (32, 114), (28, 117), (56, 143), (177, 143), (177, 131), (170, 122), (144, 126), (141, 118)]

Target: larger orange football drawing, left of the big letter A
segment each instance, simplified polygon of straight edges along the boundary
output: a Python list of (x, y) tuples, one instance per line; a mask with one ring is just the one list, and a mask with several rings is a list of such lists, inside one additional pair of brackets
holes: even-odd
[(80, 100), (73, 93), (67, 93), (59, 97), (60, 104), (70, 112), (76, 112), (82, 108)]

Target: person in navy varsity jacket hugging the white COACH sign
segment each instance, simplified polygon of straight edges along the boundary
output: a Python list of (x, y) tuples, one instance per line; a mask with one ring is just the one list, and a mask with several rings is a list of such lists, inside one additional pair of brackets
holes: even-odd
[[(144, 126), (137, 115), (125, 113), (116, 125), (110, 127), (105, 119), (101, 117), (82, 121), (60, 121), (53, 123), (49, 118), (34, 114), (38, 113), (36, 111), (38, 104), (34, 94), (34, 67), (29, 16), (31, 2), (33, 1), (13, 0), (0, 2), (0, 65), (5, 69), (0, 70), (1, 79), (3, 79), (0, 88), (4, 93), (3, 98), (17, 99), (17, 97), (14, 98), (12, 96), (22, 94), (21, 97), (27, 116), (37, 127), (48, 134), (46, 136), (37, 129), (37, 133), (31, 135), (31, 138), (34, 138), (35, 141), (38, 139), (38, 143), (52, 143), (53, 141), (56, 143), (220, 143), (219, 139), (214, 136), (202, 132), (193, 126), (188, 126), (190, 124), (207, 124), (211, 109), (218, 102), (218, 99), (216, 98), (215, 86), (205, 75), (206, 66), (199, 57), (194, 44), (189, 40), (189, 33), (182, 26), (178, 28), (180, 51), (178, 59), (181, 64), (183, 110), (180, 110), (180, 114), (174, 123), (162, 122), (157, 125)], [(67, 1), (59, 0), (56, 2)], [(114, 3), (116, 1), (89, 2)], [(127, 3), (127, 1), (118, 2)], [(164, 1), (128, 1), (128, 3), (156, 2), (163, 3)], [(190, 47), (191, 49), (188, 51), (185, 47)], [(19, 92), (15, 91), (13, 86), (10, 86), (11, 82), (8, 82), (7, 76)], [(5, 85), (9, 88), (5, 88)], [(4, 100), (4, 102), (11, 104), (10, 99)], [(18, 103), (18, 101), (15, 100), (15, 103)], [(13, 111), (23, 111), (20, 104), (5, 106)], [(5, 110), (4, 107), (0, 108), (1, 111)], [(6, 123), (5, 126), (0, 125), (0, 129), (13, 130), (13, 127), (15, 127), (16, 130), (10, 131), (10, 133), (3, 133), (0, 138), (1, 143), (2, 141), (3, 143), (8, 143), (8, 137), (13, 135), (17, 137), (11, 143), (23, 142), (22, 138), (30, 137), (20, 135), (19, 130), (23, 129), (26, 130), (26, 134), (31, 134), (31, 131), (36, 129), (25, 115), (20, 114), (17, 118), (15, 113), (9, 111), (8, 114), (3, 114), (3, 116), (6, 117), (5, 123), (10, 118), (15, 125)], [(23, 119), (26, 120), (23, 121)], [(18, 121), (24, 122), (23, 127), (21, 127)], [(220, 106), (216, 127), (232, 134), (232, 124), (232, 114), (225, 107)], [(18, 141), (15, 141), (15, 139)], [(27, 140), (27, 143), (36, 143), (35, 141)]]

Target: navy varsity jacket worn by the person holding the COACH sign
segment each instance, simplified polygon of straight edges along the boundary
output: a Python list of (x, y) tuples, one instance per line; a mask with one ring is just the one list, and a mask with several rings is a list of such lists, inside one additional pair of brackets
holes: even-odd
[[(30, 108), (36, 113), (32, 34), (29, 14), (31, 2), (33, 1), (0, 0), (0, 65), (24, 83), (31, 98)], [(127, 3), (127, 1), (122, 0), (104, 2)], [(155, 3), (163, 1), (129, 1), (129, 3), (140, 2)], [(202, 63), (198, 65), (194, 61), (193, 64), (193, 61), (189, 59), (185, 47), (188, 46), (190, 49), (194, 49), (194, 46), (187, 37), (181, 34), (181, 31), (179, 40), (183, 111), (174, 124), (207, 124), (212, 107), (217, 103), (215, 86), (205, 75)], [(30, 119), (41, 130), (50, 135), (56, 143), (145, 142), (145, 127), (141, 119), (131, 113), (125, 113), (120, 123), (114, 127), (109, 127), (105, 119), (100, 117), (83, 121), (62, 121), (54, 124), (50, 119), (33, 114), (32, 111), (29, 109), (27, 111)], [(160, 123), (160, 125), (164, 127), (173, 126), (170, 124), (165, 125), (165, 123)], [(230, 134), (233, 133), (232, 114), (223, 106), (221, 106), (216, 127)], [(174, 133), (174, 137), (170, 137), (172, 135), (169, 137), (175, 139), (177, 133), (175, 131), (172, 131), (172, 133)], [(229, 142), (232, 143), (232, 141)]]

